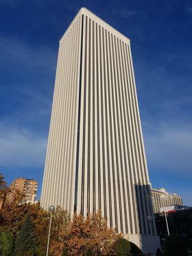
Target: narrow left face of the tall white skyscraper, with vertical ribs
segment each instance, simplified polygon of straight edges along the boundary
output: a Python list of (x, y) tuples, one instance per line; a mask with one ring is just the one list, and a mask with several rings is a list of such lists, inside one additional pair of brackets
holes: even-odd
[[(41, 203), (73, 213), (82, 16), (60, 41)], [(73, 199), (73, 200), (72, 200)]]

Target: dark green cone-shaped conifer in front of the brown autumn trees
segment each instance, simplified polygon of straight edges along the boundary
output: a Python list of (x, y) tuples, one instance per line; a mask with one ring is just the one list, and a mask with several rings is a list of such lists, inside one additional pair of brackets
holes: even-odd
[(15, 256), (33, 256), (36, 250), (36, 239), (34, 235), (34, 223), (32, 217), (27, 214), (21, 231), (16, 237), (14, 255)]

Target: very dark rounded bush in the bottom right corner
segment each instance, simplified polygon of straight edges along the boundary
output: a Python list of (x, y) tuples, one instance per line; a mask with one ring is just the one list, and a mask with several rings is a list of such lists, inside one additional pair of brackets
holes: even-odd
[(187, 243), (178, 235), (169, 235), (165, 241), (165, 252), (170, 256), (185, 256), (187, 255)]

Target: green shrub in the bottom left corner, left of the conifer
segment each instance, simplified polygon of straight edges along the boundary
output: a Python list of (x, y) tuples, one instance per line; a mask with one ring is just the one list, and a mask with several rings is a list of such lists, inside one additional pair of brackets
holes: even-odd
[(14, 235), (10, 231), (0, 231), (0, 255), (11, 256), (14, 250)]

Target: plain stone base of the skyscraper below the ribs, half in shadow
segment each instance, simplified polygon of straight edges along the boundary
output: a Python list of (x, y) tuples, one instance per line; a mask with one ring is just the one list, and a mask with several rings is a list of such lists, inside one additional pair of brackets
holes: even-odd
[(158, 235), (124, 234), (123, 237), (136, 244), (143, 253), (156, 253), (157, 248), (160, 248)]

